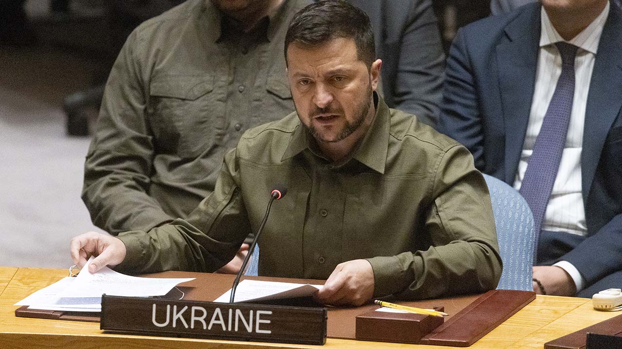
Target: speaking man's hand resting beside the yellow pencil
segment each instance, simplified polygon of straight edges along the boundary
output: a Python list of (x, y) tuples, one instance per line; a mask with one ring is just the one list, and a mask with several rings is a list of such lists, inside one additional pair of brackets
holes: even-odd
[(360, 306), (374, 295), (374, 271), (366, 260), (346, 261), (337, 265), (315, 301), (323, 304)]

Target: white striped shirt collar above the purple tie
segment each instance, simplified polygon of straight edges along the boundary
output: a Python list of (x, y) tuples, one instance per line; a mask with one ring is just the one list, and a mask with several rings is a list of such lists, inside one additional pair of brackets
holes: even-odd
[(544, 7), (541, 11), (541, 32), (540, 32), (540, 47), (552, 45), (556, 42), (572, 43), (583, 50), (596, 54), (598, 50), (598, 42), (600, 41), (600, 34), (603, 32), (607, 16), (609, 15), (610, 2), (607, 2), (603, 12), (596, 17), (585, 29), (582, 30), (577, 36), (571, 40), (566, 41), (562, 39), (553, 24), (550, 22), (549, 15), (546, 13)]

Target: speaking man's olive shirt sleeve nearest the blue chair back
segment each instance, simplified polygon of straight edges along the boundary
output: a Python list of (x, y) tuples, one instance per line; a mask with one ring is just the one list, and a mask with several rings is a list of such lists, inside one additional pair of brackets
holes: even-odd
[(440, 158), (432, 195), (425, 222), (432, 246), (370, 258), (374, 296), (422, 299), (496, 288), (502, 264), (490, 194), (462, 145)]

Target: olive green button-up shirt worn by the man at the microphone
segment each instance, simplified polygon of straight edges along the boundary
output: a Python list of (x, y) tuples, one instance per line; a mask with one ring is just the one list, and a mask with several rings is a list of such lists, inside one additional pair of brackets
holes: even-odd
[(258, 229), (281, 185), (287, 194), (259, 237), (260, 275), (327, 279), (338, 263), (366, 258), (374, 296), (495, 288), (501, 258), (490, 196), (471, 154), (376, 101), (373, 123), (343, 163), (315, 150), (295, 113), (248, 130), (187, 220), (119, 235), (127, 255), (117, 268), (217, 270)]

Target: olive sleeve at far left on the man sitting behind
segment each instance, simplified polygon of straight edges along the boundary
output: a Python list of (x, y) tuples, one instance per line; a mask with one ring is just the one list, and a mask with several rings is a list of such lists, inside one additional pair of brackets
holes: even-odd
[(137, 41), (134, 31), (114, 63), (85, 161), (82, 199), (93, 224), (113, 235), (175, 218), (148, 193), (154, 145)]

